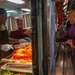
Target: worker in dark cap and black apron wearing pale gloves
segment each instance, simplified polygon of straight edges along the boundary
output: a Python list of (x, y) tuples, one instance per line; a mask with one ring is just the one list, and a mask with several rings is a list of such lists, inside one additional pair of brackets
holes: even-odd
[(25, 42), (24, 39), (12, 39), (8, 36), (5, 22), (7, 20), (7, 13), (4, 8), (0, 8), (0, 59), (10, 54), (13, 49), (13, 44)]

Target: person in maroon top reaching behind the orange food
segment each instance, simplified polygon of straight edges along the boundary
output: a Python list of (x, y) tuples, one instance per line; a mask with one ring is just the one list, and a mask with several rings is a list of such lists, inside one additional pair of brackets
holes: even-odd
[(21, 19), (16, 19), (16, 21), (17, 21), (18, 30), (11, 31), (10, 32), (10, 37), (14, 38), (14, 39), (24, 38), (27, 41), (31, 41), (31, 39), (30, 39), (31, 28), (29, 28), (29, 29), (27, 29), (27, 28), (23, 29), (22, 20)]

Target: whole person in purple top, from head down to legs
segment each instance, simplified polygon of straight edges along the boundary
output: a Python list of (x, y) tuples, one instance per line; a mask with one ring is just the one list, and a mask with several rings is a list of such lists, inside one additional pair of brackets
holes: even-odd
[(70, 55), (72, 59), (73, 72), (75, 75), (75, 10), (71, 10), (68, 14), (68, 29), (66, 34), (61, 38), (56, 38), (56, 42), (65, 42), (71, 47)]

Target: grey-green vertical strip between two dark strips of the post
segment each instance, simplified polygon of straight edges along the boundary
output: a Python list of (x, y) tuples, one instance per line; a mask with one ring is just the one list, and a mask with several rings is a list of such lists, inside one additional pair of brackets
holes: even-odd
[(38, 61), (39, 75), (43, 75), (42, 0), (38, 0)]

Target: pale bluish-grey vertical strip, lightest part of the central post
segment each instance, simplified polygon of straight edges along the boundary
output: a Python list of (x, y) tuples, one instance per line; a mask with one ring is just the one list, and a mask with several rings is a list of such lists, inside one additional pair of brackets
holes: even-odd
[(49, 38), (50, 38), (50, 73), (54, 75), (55, 69), (55, 6), (50, 0), (49, 6)]

